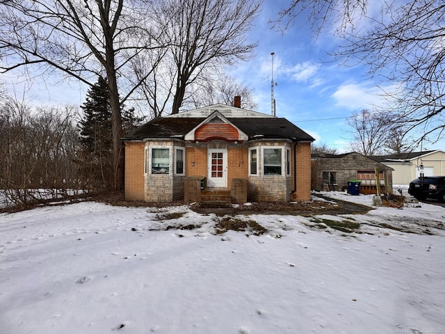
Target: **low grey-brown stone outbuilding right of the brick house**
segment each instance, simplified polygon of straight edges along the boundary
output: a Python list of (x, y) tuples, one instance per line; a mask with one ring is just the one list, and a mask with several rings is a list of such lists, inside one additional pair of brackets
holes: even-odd
[(347, 189), (348, 181), (360, 182), (360, 193), (392, 192), (392, 168), (357, 152), (312, 154), (312, 188)]

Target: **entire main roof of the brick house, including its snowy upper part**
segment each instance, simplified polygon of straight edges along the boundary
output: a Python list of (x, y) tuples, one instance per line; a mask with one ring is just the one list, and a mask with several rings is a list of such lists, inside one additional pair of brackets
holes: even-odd
[[(286, 120), (268, 116), (256, 111), (215, 104), (203, 109), (195, 109), (186, 113), (179, 113), (163, 118), (154, 118), (135, 131), (124, 136), (124, 141), (138, 141), (145, 138), (181, 138), (192, 132), (207, 119), (223, 116), (224, 120), (232, 123), (248, 139), (288, 138), (292, 141), (314, 141), (312, 136), (302, 131), (296, 125)], [(185, 116), (185, 117), (181, 117)], [(243, 117), (241, 117), (243, 116)]]

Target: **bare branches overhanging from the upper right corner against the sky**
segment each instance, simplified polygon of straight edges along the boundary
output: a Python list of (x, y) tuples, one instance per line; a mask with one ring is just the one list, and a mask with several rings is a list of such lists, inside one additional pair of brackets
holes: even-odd
[(390, 19), (376, 22), (365, 35), (350, 35), (337, 56), (354, 56), (396, 83), (387, 92), (394, 103), (385, 107), (385, 122), (420, 132), (416, 143), (435, 142), (445, 129), (445, 3), (413, 0), (400, 8), (387, 8)]

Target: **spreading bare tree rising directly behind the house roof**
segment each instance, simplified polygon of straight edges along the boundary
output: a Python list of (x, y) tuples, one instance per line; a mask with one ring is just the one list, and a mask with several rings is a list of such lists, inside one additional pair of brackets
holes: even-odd
[[(162, 75), (156, 77), (154, 88), (171, 94), (172, 113), (178, 113), (183, 102), (191, 98), (196, 89), (193, 84), (209, 79), (205, 76), (208, 71), (218, 72), (223, 65), (251, 58), (256, 43), (246, 42), (246, 37), (260, 4), (251, 0), (159, 2), (154, 20), (162, 28), (168, 54), (166, 63), (160, 64)], [(168, 81), (172, 86), (162, 82), (164, 75), (172, 76)], [(151, 95), (158, 97), (156, 90)]]

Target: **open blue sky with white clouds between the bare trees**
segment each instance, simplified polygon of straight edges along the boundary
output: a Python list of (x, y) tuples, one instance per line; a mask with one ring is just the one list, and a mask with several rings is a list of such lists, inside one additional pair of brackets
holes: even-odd
[[(382, 84), (366, 77), (366, 67), (346, 67), (327, 55), (340, 42), (330, 26), (326, 26), (316, 39), (303, 17), (284, 34), (271, 29), (268, 21), (277, 16), (280, 6), (284, 6), (277, 5), (278, 2), (264, 1), (249, 36), (250, 40), (259, 43), (255, 56), (249, 62), (238, 63), (230, 74), (254, 89), (257, 111), (270, 113), (270, 53), (274, 52), (276, 116), (287, 118), (314, 136), (317, 145), (349, 152), (353, 129), (348, 127), (346, 120), (354, 111), (372, 110), (373, 104), (381, 104), (382, 98), (378, 94), (382, 91), (375, 84)], [(373, 10), (378, 8), (370, 7), (368, 14)], [(30, 86), (29, 82), (18, 80), (15, 74), (3, 74), (0, 79), (15, 82), (18, 99), (22, 98), (22, 90)], [(86, 88), (79, 82), (65, 81), (53, 86), (55, 83), (56, 80), (45, 82), (36, 78), (26, 93), (26, 100), (37, 105), (83, 103)], [(386, 83), (382, 88), (389, 86), (390, 83)], [(428, 144), (426, 148), (445, 150), (445, 143)]]

